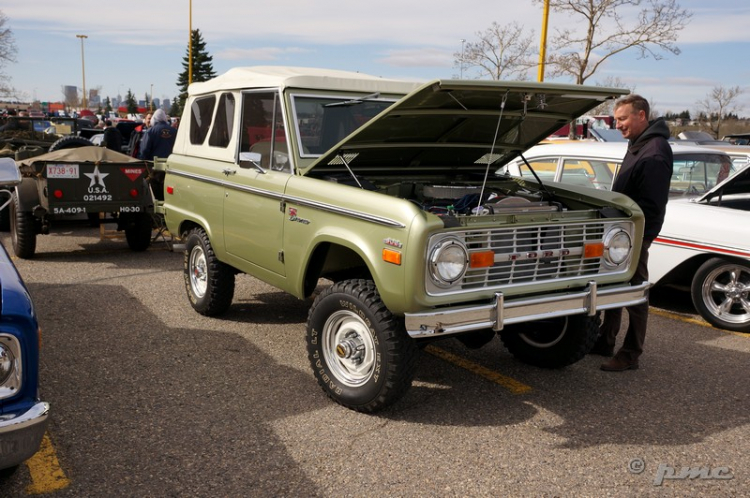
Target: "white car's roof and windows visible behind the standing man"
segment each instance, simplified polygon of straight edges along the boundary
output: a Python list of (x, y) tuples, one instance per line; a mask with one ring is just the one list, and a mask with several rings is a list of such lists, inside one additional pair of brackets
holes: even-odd
[[(735, 169), (725, 152), (670, 143), (674, 169), (670, 196), (699, 195), (727, 178)], [(532, 147), (509, 162), (498, 174), (508, 173), (542, 182), (555, 181), (609, 190), (627, 152), (627, 142), (559, 142)], [(526, 162), (524, 162), (524, 158)]]

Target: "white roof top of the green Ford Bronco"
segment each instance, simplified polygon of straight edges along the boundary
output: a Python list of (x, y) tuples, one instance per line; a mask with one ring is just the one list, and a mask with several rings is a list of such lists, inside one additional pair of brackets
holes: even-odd
[(290, 66), (236, 67), (202, 83), (193, 83), (189, 95), (202, 95), (221, 90), (244, 88), (287, 87), (344, 90), (350, 92), (381, 92), (406, 95), (422, 83), (379, 78), (363, 73)]

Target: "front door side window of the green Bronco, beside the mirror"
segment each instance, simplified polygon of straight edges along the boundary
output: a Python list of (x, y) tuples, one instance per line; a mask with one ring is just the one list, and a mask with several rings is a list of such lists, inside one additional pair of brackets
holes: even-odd
[(257, 152), (261, 167), (291, 171), (286, 130), (277, 92), (246, 93), (242, 97), (240, 152)]

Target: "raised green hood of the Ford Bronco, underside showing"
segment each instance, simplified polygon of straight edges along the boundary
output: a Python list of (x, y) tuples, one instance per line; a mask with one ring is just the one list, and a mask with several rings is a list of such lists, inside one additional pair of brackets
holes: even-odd
[(579, 85), (437, 80), (393, 104), (303, 173), (341, 165), (368, 175), (496, 169), (603, 101), (627, 93)]

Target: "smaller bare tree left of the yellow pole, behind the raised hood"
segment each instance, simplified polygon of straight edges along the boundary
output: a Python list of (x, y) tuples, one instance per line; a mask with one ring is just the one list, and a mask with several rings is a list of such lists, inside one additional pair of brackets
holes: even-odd
[(505, 26), (493, 22), (485, 31), (476, 32), (477, 41), (468, 42), (463, 53), (453, 54), (454, 66), (475, 69), (477, 77), (525, 80), (529, 70), (536, 66), (533, 61), (536, 47), (531, 41), (533, 30), (523, 35), (523, 26), (516, 22)]

